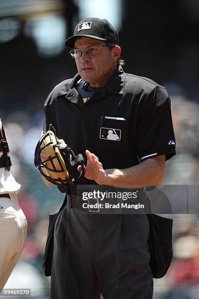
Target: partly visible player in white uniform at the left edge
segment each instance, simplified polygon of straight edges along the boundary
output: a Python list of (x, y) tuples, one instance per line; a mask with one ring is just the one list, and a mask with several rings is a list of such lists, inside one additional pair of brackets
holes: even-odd
[(9, 171), (8, 154), (0, 121), (0, 293), (20, 258), (27, 234), (26, 218), (17, 197), (21, 186)]

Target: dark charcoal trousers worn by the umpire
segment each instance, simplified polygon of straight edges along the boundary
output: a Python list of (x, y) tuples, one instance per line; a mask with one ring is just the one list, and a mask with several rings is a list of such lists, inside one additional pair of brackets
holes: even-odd
[(146, 214), (87, 214), (67, 206), (54, 235), (50, 299), (152, 299)]

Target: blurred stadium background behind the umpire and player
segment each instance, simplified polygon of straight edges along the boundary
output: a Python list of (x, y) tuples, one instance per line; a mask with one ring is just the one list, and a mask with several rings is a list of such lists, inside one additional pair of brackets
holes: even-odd
[[(41, 268), (47, 219), (63, 199), (35, 170), (34, 149), (46, 97), (76, 73), (64, 41), (84, 17), (108, 19), (119, 31), (126, 72), (166, 86), (178, 154), (164, 184), (199, 185), (198, 0), (0, 0), (0, 117), (28, 221), (24, 251), (5, 287), (31, 288), (34, 299), (49, 298)], [(199, 299), (199, 216), (169, 216), (174, 258), (168, 274), (155, 280), (154, 299)]]

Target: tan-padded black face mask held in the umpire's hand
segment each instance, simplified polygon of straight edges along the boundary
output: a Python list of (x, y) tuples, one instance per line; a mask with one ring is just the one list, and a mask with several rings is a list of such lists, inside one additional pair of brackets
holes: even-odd
[[(41, 151), (45, 156), (43, 161)], [(74, 182), (85, 170), (82, 154), (76, 156), (62, 139), (58, 139), (52, 125), (36, 146), (34, 163), (41, 175), (58, 186), (63, 184), (74, 186)], [(81, 173), (78, 171), (79, 165), (82, 166)]]

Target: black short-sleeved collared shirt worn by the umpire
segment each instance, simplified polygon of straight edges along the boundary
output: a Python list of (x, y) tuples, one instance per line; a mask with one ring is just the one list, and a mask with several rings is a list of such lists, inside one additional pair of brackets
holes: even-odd
[[(126, 74), (121, 66), (108, 83), (83, 104), (77, 91), (80, 75), (57, 85), (45, 104), (50, 124), (75, 154), (95, 153), (104, 169), (124, 169), (145, 159), (175, 155), (170, 99), (154, 81)], [(78, 184), (95, 184), (83, 176)]]

